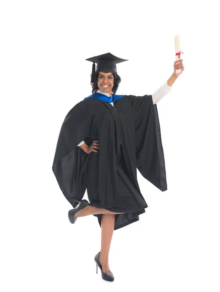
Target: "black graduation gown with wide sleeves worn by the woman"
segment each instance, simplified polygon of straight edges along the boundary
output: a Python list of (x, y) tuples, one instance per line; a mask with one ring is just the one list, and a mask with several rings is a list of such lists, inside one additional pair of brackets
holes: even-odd
[[(77, 146), (83, 140), (89, 146), (98, 140), (98, 152), (87, 154)], [(119, 151), (122, 164), (117, 164)], [(114, 230), (139, 220), (147, 203), (138, 185), (137, 168), (150, 183), (167, 190), (158, 110), (152, 95), (125, 95), (114, 107), (90, 97), (68, 112), (52, 169), (73, 208), (87, 188), (92, 205), (124, 213), (115, 215)], [(94, 216), (101, 226), (102, 214)]]

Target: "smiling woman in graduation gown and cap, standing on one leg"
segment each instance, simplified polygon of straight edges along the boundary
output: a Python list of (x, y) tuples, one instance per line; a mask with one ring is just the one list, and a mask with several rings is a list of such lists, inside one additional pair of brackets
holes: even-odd
[[(88, 215), (97, 217), (101, 250), (94, 258), (96, 273), (99, 267), (102, 278), (113, 281), (108, 263), (113, 231), (138, 221), (147, 208), (137, 168), (150, 183), (167, 190), (157, 103), (184, 67), (182, 59), (175, 61), (174, 73), (153, 95), (117, 95), (121, 78), (116, 64), (127, 60), (110, 53), (87, 60), (93, 62), (92, 95), (65, 117), (52, 169), (73, 206), (68, 213), (70, 222)], [(82, 200), (86, 189), (90, 202)]]

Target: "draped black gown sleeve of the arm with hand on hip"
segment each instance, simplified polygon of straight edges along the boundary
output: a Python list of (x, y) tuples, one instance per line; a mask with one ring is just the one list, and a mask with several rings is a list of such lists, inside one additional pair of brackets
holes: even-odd
[(91, 119), (91, 111), (82, 102), (76, 104), (63, 121), (55, 149), (52, 170), (61, 191), (73, 208), (82, 200), (86, 190), (85, 168), (89, 154), (77, 145), (82, 140), (87, 145), (91, 144), (86, 138), (88, 129), (92, 130)]

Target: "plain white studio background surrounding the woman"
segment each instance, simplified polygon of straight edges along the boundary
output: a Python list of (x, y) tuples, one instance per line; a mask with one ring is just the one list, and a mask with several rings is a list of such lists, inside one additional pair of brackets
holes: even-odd
[[(1, 1), (1, 291), (220, 291), (217, 3)], [(173, 73), (176, 34), (185, 69), (158, 104), (168, 189), (138, 172), (148, 208), (114, 231), (106, 282), (98, 220), (70, 224), (52, 172), (59, 130), (92, 94), (86, 58), (128, 59), (117, 94), (152, 94)]]

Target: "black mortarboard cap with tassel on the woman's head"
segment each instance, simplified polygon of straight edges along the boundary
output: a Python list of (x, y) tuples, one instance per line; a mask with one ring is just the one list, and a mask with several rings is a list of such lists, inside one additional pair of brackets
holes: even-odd
[[(110, 53), (99, 55), (99, 56), (94, 56), (92, 58), (86, 59), (86, 61), (91, 61), (93, 62), (92, 64), (92, 77), (91, 77), (91, 82), (95, 82), (95, 72), (104, 72), (104, 73), (109, 73), (109, 72), (117, 72), (116, 64), (128, 61), (126, 59), (121, 59), (118, 58)], [(95, 70), (95, 63), (97, 63), (97, 67)]]

